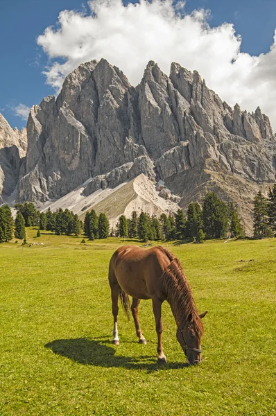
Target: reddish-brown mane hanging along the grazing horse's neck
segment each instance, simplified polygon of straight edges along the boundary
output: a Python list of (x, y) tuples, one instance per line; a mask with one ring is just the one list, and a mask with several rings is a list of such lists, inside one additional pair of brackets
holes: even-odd
[(191, 288), (184, 275), (180, 261), (171, 251), (162, 246), (159, 246), (159, 248), (171, 261), (162, 275), (167, 300), (170, 304), (173, 304), (175, 313), (177, 313), (178, 316), (183, 315), (184, 318), (187, 318), (189, 313), (192, 313), (195, 331), (199, 336), (202, 336), (202, 320), (198, 314), (198, 309), (196, 308), (193, 295), (191, 294)]

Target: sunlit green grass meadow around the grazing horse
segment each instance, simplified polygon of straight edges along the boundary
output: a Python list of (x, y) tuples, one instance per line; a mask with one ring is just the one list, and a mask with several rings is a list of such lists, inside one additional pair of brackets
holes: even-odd
[(185, 367), (164, 303), (159, 367), (150, 301), (139, 309), (148, 344), (121, 309), (111, 343), (107, 269), (123, 241), (35, 235), (44, 246), (0, 245), (1, 416), (276, 414), (276, 239), (166, 244), (209, 313), (203, 361)]

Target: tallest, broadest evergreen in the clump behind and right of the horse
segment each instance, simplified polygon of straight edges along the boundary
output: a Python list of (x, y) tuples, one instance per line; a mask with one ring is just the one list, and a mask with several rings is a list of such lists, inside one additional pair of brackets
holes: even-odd
[(227, 205), (216, 193), (208, 192), (203, 200), (202, 218), (204, 231), (208, 239), (225, 237), (228, 225)]

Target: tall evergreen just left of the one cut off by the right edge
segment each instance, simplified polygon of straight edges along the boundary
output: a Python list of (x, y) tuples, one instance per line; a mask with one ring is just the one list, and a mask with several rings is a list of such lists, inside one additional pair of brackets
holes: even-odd
[(254, 236), (255, 239), (265, 239), (273, 235), (268, 223), (268, 202), (259, 191), (254, 198)]

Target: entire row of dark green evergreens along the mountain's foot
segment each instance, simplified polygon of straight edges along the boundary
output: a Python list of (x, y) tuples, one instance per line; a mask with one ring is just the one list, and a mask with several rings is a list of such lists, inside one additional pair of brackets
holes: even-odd
[[(237, 207), (233, 202), (225, 204), (216, 193), (208, 192), (202, 202), (191, 202), (184, 215), (178, 209), (175, 215), (162, 214), (150, 216), (145, 212), (137, 214), (132, 211), (131, 217), (120, 216), (116, 227), (110, 229), (110, 223), (101, 213), (96, 214), (92, 209), (85, 214), (84, 223), (77, 214), (69, 209), (58, 209), (46, 213), (35, 209), (32, 202), (15, 204), (17, 216), (15, 220), (8, 205), (0, 207), (0, 242), (10, 241), (14, 235), (16, 239), (25, 239), (25, 227), (39, 227), (57, 235), (76, 235), (83, 233), (89, 240), (106, 239), (107, 236), (141, 241), (187, 239), (201, 243), (204, 239), (220, 239), (226, 236), (243, 237), (244, 230)], [(264, 239), (276, 236), (276, 184), (269, 189), (266, 198), (261, 191), (253, 201), (254, 237)]]

